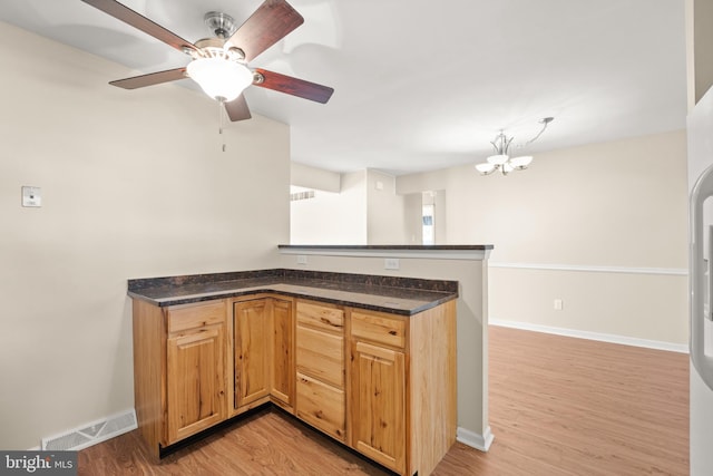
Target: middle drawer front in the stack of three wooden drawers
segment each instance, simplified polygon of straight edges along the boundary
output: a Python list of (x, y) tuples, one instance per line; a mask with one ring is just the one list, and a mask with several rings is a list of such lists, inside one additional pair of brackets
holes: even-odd
[(344, 338), (297, 326), (297, 369), (344, 388)]

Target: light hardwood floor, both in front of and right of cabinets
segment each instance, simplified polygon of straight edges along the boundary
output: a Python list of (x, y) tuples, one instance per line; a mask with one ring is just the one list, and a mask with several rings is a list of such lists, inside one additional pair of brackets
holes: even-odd
[[(490, 328), (488, 453), (434, 475), (687, 475), (688, 356)], [(152, 464), (136, 431), (79, 453), (79, 475), (387, 475), (280, 411)]]

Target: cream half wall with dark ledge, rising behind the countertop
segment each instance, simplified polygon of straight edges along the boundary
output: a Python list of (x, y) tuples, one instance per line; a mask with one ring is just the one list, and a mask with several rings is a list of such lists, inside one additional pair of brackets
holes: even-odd
[[(491, 244), (280, 245), (280, 268), (458, 281), (458, 441), (487, 451), (488, 261)], [(387, 269), (397, 264), (398, 269)], [(397, 260), (398, 262), (394, 262)]]

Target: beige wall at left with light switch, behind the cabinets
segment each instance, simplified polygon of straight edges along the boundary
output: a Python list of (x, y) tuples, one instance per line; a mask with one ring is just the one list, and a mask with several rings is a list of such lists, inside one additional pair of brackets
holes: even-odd
[[(0, 23), (0, 448), (134, 406), (129, 278), (262, 269), (289, 241), (290, 136)], [(221, 152), (223, 140), (225, 153)], [(41, 208), (20, 187), (42, 190)]]

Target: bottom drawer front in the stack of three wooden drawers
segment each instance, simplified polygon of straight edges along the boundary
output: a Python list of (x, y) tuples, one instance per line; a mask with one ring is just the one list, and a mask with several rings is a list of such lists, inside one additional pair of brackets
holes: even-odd
[(297, 373), (297, 417), (344, 441), (346, 436), (344, 391)]

